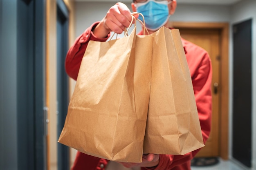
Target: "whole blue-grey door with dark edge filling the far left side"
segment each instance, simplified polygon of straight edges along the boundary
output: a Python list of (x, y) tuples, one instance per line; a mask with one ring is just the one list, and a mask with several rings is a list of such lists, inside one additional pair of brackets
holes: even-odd
[(45, 1), (0, 1), (0, 169), (46, 170)]

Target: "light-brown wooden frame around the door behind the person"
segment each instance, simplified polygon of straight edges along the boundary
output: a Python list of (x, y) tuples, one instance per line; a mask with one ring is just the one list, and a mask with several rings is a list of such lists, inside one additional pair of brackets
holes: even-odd
[(229, 159), (229, 23), (170, 22), (169, 26), (184, 29), (218, 29), (220, 31), (220, 157)]

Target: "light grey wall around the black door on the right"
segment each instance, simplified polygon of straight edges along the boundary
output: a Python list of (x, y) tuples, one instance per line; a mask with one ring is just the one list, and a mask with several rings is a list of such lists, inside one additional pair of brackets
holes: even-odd
[[(231, 8), (231, 21), (230, 26), (233, 24), (243, 22), (244, 20), (252, 19), (252, 169), (256, 170), (256, 1), (255, 0), (243, 0)], [(231, 32), (231, 31), (230, 31)], [(231, 32), (232, 33), (232, 32)], [(232, 36), (230, 36), (232, 38)], [(230, 40), (230, 45), (232, 46), (232, 39)], [(230, 50), (230, 66), (232, 66), (232, 47)], [(231, 68), (232, 69), (232, 68)], [(233, 79), (233, 71), (230, 71), (230, 81)], [(232, 90), (232, 87), (231, 89)], [(230, 99), (232, 99), (230, 97)], [(231, 101), (232, 102), (232, 101)], [(230, 102), (230, 103), (231, 103)], [(232, 103), (230, 104), (232, 106)], [(230, 108), (231, 110), (232, 108)], [(232, 112), (232, 110), (231, 110)], [(232, 116), (232, 115), (231, 115)], [(231, 133), (231, 132), (230, 132)], [(231, 138), (230, 138), (231, 139)], [(230, 145), (231, 147), (231, 145)]]

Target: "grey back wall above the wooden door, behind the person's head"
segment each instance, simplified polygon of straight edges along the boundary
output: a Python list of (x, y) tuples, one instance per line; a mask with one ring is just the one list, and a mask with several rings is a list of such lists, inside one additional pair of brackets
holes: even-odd
[[(76, 36), (83, 33), (95, 21), (100, 21), (114, 4), (113, 2), (76, 2)], [(131, 10), (130, 3), (126, 3), (126, 5)], [(230, 7), (178, 4), (176, 12), (171, 16), (170, 20), (184, 22), (229, 22)]]

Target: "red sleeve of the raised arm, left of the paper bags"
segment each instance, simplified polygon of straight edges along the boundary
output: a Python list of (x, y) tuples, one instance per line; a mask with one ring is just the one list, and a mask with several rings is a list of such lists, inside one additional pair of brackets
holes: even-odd
[(77, 79), (81, 61), (87, 48), (88, 42), (90, 40), (106, 41), (110, 36), (109, 33), (108, 36), (103, 39), (95, 37), (95, 35), (92, 33), (92, 30), (95, 28), (95, 26), (97, 26), (97, 24), (99, 24), (99, 22), (95, 22), (94, 24), (92, 24), (88, 29), (84, 31), (83, 34), (76, 38), (74, 44), (70, 47), (69, 51), (67, 52), (65, 60), (65, 69), (67, 74), (72, 79)]

